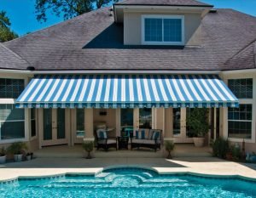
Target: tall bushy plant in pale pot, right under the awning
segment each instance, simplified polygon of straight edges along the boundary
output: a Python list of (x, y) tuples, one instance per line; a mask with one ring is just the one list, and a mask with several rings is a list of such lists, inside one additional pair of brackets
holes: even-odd
[(193, 140), (196, 147), (202, 147), (204, 145), (205, 135), (209, 129), (207, 115), (208, 110), (206, 108), (195, 108), (191, 110), (187, 120), (188, 126), (193, 129)]

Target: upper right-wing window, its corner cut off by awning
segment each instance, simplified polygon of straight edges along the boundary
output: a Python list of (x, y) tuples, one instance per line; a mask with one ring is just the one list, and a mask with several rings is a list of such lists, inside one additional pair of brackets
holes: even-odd
[(228, 85), (238, 99), (253, 99), (253, 78), (230, 79)]

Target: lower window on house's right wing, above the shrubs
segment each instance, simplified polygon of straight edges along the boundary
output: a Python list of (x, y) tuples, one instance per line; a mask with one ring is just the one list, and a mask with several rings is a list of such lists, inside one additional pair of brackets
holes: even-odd
[(229, 108), (229, 138), (252, 139), (253, 105), (240, 105)]

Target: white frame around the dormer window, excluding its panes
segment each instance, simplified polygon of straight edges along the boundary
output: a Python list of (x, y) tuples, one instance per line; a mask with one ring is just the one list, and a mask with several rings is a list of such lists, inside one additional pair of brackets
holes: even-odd
[[(145, 41), (145, 19), (161, 19), (162, 20), (162, 39), (164, 39), (164, 20), (165, 19), (177, 19), (182, 20), (182, 41), (181, 42), (147, 42)], [(163, 15), (163, 14), (143, 14), (142, 15), (142, 44), (143, 45), (184, 45), (184, 15)]]

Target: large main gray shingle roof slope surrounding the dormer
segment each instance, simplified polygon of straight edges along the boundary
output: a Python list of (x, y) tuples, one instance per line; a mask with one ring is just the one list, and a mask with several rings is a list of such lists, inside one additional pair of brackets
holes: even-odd
[[(256, 18), (232, 9), (218, 9), (202, 20), (201, 48), (124, 46), (122, 30), (113, 23), (109, 8), (102, 8), (4, 44), (36, 70), (211, 71), (252, 67), (224, 65), (256, 38)], [(23, 69), (20, 65), (11, 68)]]

